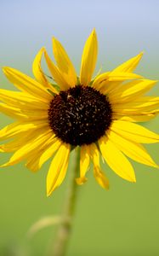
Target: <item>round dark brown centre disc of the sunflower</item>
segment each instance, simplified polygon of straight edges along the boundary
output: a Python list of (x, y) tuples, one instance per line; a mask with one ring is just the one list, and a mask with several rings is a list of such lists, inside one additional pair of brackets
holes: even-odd
[(64, 143), (72, 146), (95, 143), (111, 125), (111, 104), (98, 90), (77, 85), (54, 96), (48, 120)]

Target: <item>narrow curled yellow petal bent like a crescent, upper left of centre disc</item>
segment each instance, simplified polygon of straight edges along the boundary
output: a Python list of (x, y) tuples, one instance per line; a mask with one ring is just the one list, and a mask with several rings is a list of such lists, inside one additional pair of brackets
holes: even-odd
[(44, 48), (40, 49), (39, 52), (37, 53), (37, 55), (33, 61), (33, 64), (32, 64), (32, 72), (40, 84), (43, 84), (47, 89), (52, 90), (55, 94), (58, 94), (58, 91), (55, 90), (53, 85), (51, 85), (48, 82), (48, 79), (46, 79), (46, 77), (43, 73), (43, 70), (41, 67), (43, 52), (44, 52)]

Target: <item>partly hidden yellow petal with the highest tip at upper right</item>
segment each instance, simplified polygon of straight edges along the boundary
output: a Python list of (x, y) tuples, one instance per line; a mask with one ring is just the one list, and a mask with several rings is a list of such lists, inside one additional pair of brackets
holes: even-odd
[(132, 59), (122, 63), (122, 65), (116, 67), (114, 72), (128, 72), (132, 73), (133, 70), (138, 66), (140, 59), (142, 58), (143, 52), (139, 55), (136, 55)]

